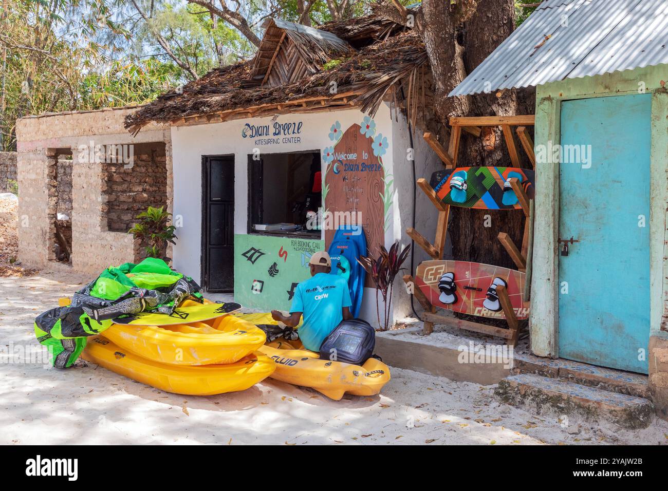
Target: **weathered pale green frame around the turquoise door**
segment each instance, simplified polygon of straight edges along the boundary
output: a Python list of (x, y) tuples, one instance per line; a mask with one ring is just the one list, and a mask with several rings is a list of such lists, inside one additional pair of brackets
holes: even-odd
[[(664, 293), (664, 271), (668, 271), (668, 234), (666, 205), (668, 190), (665, 173), (668, 162), (668, 94), (659, 85), (665, 65), (645, 67), (625, 72), (605, 73), (594, 77), (566, 79), (536, 88), (536, 125), (534, 152), (539, 145), (561, 142), (561, 104), (565, 100), (639, 94), (639, 81), (646, 81), (645, 93), (652, 94), (651, 155), (650, 155), (650, 333), (661, 329)], [(653, 85), (651, 85), (653, 84)], [(609, 92), (615, 88), (615, 92)], [(535, 355), (559, 356), (559, 165), (536, 159), (536, 200), (534, 251), (532, 258), (530, 339)], [(666, 250), (665, 250), (666, 249)]]

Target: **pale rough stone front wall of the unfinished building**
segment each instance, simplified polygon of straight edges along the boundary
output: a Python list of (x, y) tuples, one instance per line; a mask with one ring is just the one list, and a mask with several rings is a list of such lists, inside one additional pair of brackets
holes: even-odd
[[(22, 118), (17, 122), (19, 182), (19, 261), (27, 267), (71, 269), (95, 275), (104, 267), (132, 261), (132, 235), (107, 228), (100, 162), (79, 156), (80, 146), (168, 142), (168, 126), (150, 124), (136, 136), (123, 128), (132, 109), (102, 110)], [(56, 154), (71, 152), (72, 261), (71, 267), (49, 260), (48, 168)], [(170, 150), (171, 152), (171, 150)], [(47, 156), (47, 153), (49, 156)], [(171, 158), (171, 153), (169, 155)], [(165, 165), (165, 163), (163, 164)], [(166, 162), (171, 169), (171, 162)], [(167, 183), (172, 189), (172, 183)], [(51, 196), (53, 198), (53, 196)], [(171, 201), (168, 202), (171, 206)]]

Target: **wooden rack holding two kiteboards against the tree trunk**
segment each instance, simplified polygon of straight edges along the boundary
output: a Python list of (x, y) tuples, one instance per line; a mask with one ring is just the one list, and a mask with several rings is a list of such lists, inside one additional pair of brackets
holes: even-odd
[[(536, 165), (534, 144), (526, 130), (526, 126), (534, 125), (534, 120), (535, 117), (532, 114), (523, 116), (450, 118), (452, 132), (450, 133), (450, 142), (448, 143), (447, 150), (440, 144), (440, 142), (438, 142), (438, 140), (436, 140), (436, 137), (431, 133), (425, 133), (424, 139), (432, 148), (432, 150), (436, 152), (446, 168), (456, 168), (462, 131), (466, 131), (474, 136), (480, 136), (480, 134), (482, 134), (482, 126), (501, 126), (502, 132), (504, 134), (504, 140), (506, 140), (506, 145), (508, 146), (508, 153), (510, 154), (510, 161), (512, 162), (512, 166), (519, 168), (520, 157), (514, 136), (512, 134), (512, 126), (516, 126), (517, 128), (515, 132), (520, 140), (520, 143), (522, 144), (522, 148), (524, 148), (524, 151), (528, 155), (532, 167), (534, 167)], [(520, 206), (522, 206), (524, 216), (526, 216), (524, 234), (522, 236), (522, 247), (521, 249), (518, 249), (510, 236), (508, 236), (508, 234), (505, 232), (500, 232), (498, 234), (498, 240), (501, 242), (504, 249), (506, 249), (508, 255), (510, 255), (512, 258), (512, 261), (515, 263), (517, 269), (526, 273), (524, 281), (524, 295), (522, 299), (523, 301), (528, 301), (528, 291), (530, 289), (530, 284), (528, 283), (530, 282), (530, 261), (528, 259), (530, 259), (530, 244), (532, 242), (533, 232), (533, 203), (526, 195), (526, 192), (524, 192), (524, 189), (520, 185), (520, 182), (517, 180), (517, 178), (512, 178), (510, 180), (510, 184), (518, 198)], [(422, 189), (432, 204), (434, 204), (436, 210), (438, 210), (436, 238), (432, 244), (432, 242), (420, 234), (418, 230), (415, 230), (412, 227), (407, 228), (406, 233), (415, 241), (415, 244), (418, 244), (420, 247), (422, 247), (422, 249), (424, 249), (424, 251), (430, 257), (432, 257), (432, 259), (440, 260), (443, 259), (443, 253), (446, 244), (450, 205), (444, 204), (438, 199), (436, 191), (434, 188), (432, 188), (432, 186), (430, 186), (426, 179), (418, 179), (418, 187)], [(450, 325), (459, 329), (467, 329), (468, 331), (475, 331), (477, 333), (502, 337), (506, 339), (508, 345), (511, 346), (514, 346), (517, 343), (519, 335), (518, 319), (514, 310), (512, 309), (510, 298), (508, 297), (508, 292), (506, 291), (505, 287), (497, 287), (496, 292), (498, 294), (504, 316), (506, 317), (506, 322), (508, 323), (508, 329), (439, 315), (436, 313), (436, 307), (430, 303), (426, 295), (424, 295), (420, 289), (415, 287), (415, 279), (411, 275), (404, 275), (403, 281), (405, 281), (407, 285), (412, 286), (415, 299), (417, 299), (420, 305), (422, 305), (422, 307), (425, 309), (425, 313), (423, 315), (425, 334), (432, 333), (434, 331), (434, 324), (436, 323)]]

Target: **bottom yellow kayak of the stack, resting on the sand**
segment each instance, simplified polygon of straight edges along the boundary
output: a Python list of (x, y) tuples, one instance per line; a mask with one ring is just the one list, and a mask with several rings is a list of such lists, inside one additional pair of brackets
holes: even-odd
[(274, 361), (261, 353), (253, 353), (228, 365), (168, 365), (126, 351), (102, 335), (88, 339), (81, 357), (119, 375), (183, 395), (245, 390), (269, 377), (276, 368)]

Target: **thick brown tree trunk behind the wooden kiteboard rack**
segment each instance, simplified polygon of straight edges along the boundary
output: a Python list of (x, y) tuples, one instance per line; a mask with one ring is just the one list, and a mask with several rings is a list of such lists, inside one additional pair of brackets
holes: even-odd
[[(442, 0), (423, 0), (419, 25), (434, 73), (435, 110), (442, 124), (450, 116), (503, 116), (530, 114), (532, 98), (526, 91), (504, 91), (446, 98), (514, 29), (513, 0), (478, 0), (472, 15), (466, 0), (450, 5)], [(480, 138), (462, 133), (458, 166), (510, 166), (508, 148), (500, 128), (483, 128)], [(530, 166), (516, 139), (523, 160)], [(486, 220), (486, 216), (490, 220)], [(490, 226), (485, 226), (485, 224)], [(454, 259), (515, 268), (498, 241), (499, 232), (506, 232), (517, 245), (522, 244), (524, 214), (512, 210), (470, 210), (450, 208), (448, 234), (452, 240)]]

